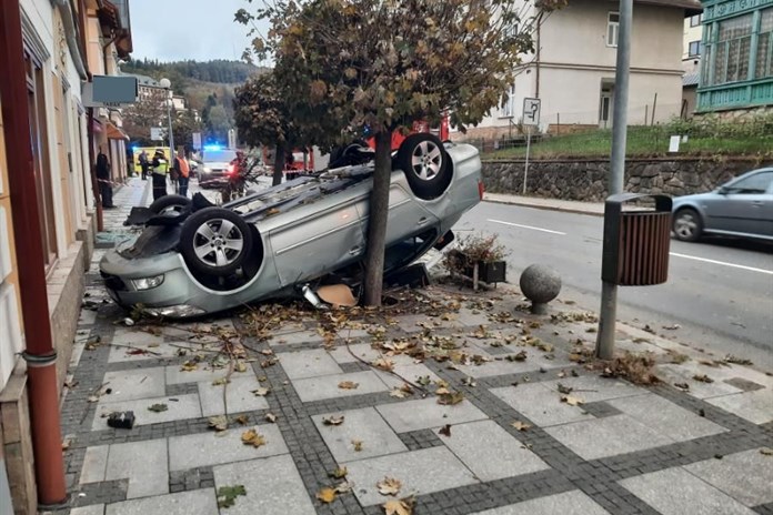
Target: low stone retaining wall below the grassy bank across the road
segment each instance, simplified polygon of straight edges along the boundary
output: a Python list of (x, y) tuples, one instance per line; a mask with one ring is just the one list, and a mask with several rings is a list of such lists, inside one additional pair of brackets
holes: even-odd
[[(623, 189), (632, 193), (665, 193), (673, 196), (702, 193), (763, 164), (754, 159), (629, 160)], [(523, 170), (522, 160), (483, 162), (486, 191), (523, 194)], [(609, 161), (531, 161), (526, 194), (546, 199), (603, 201), (606, 198), (609, 171)]]

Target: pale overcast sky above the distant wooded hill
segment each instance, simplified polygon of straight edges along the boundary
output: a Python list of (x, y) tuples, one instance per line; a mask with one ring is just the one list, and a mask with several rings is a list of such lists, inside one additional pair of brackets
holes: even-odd
[(235, 23), (247, 0), (131, 0), (131, 39), (134, 59), (179, 61), (241, 59), (249, 44), (247, 27)]

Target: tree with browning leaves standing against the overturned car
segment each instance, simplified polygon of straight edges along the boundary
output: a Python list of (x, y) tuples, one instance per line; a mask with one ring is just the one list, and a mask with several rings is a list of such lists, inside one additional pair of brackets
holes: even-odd
[[(364, 302), (381, 303), (391, 133), (449, 112), (465, 130), (514, 80), (532, 31), (565, 0), (278, 0), (237, 20), (271, 22), (258, 54), (274, 52), (277, 78), (295, 104), (325, 103), (342, 125), (375, 138)], [(524, 7), (525, 6), (525, 7)], [(534, 8), (533, 10), (531, 8)]]

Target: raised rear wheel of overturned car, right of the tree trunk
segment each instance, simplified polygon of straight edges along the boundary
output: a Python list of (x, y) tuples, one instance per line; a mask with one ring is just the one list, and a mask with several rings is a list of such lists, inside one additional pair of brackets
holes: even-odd
[(405, 138), (395, 165), (405, 174), (414, 195), (432, 200), (443, 194), (451, 184), (451, 165), (443, 143), (434, 134), (420, 132)]

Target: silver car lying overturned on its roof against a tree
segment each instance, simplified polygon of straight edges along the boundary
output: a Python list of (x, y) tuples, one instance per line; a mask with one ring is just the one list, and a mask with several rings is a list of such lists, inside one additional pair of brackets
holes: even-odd
[[(355, 285), (372, 174), (372, 161), (329, 168), (221, 206), (200, 195), (159, 199), (142, 233), (102, 259), (104, 284), (120, 305), (171, 317), (299, 295), (325, 281)], [(425, 133), (405, 139), (393, 156), (385, 274), (453, 240), (451, 228), (482, 194), (474, 147)]]

